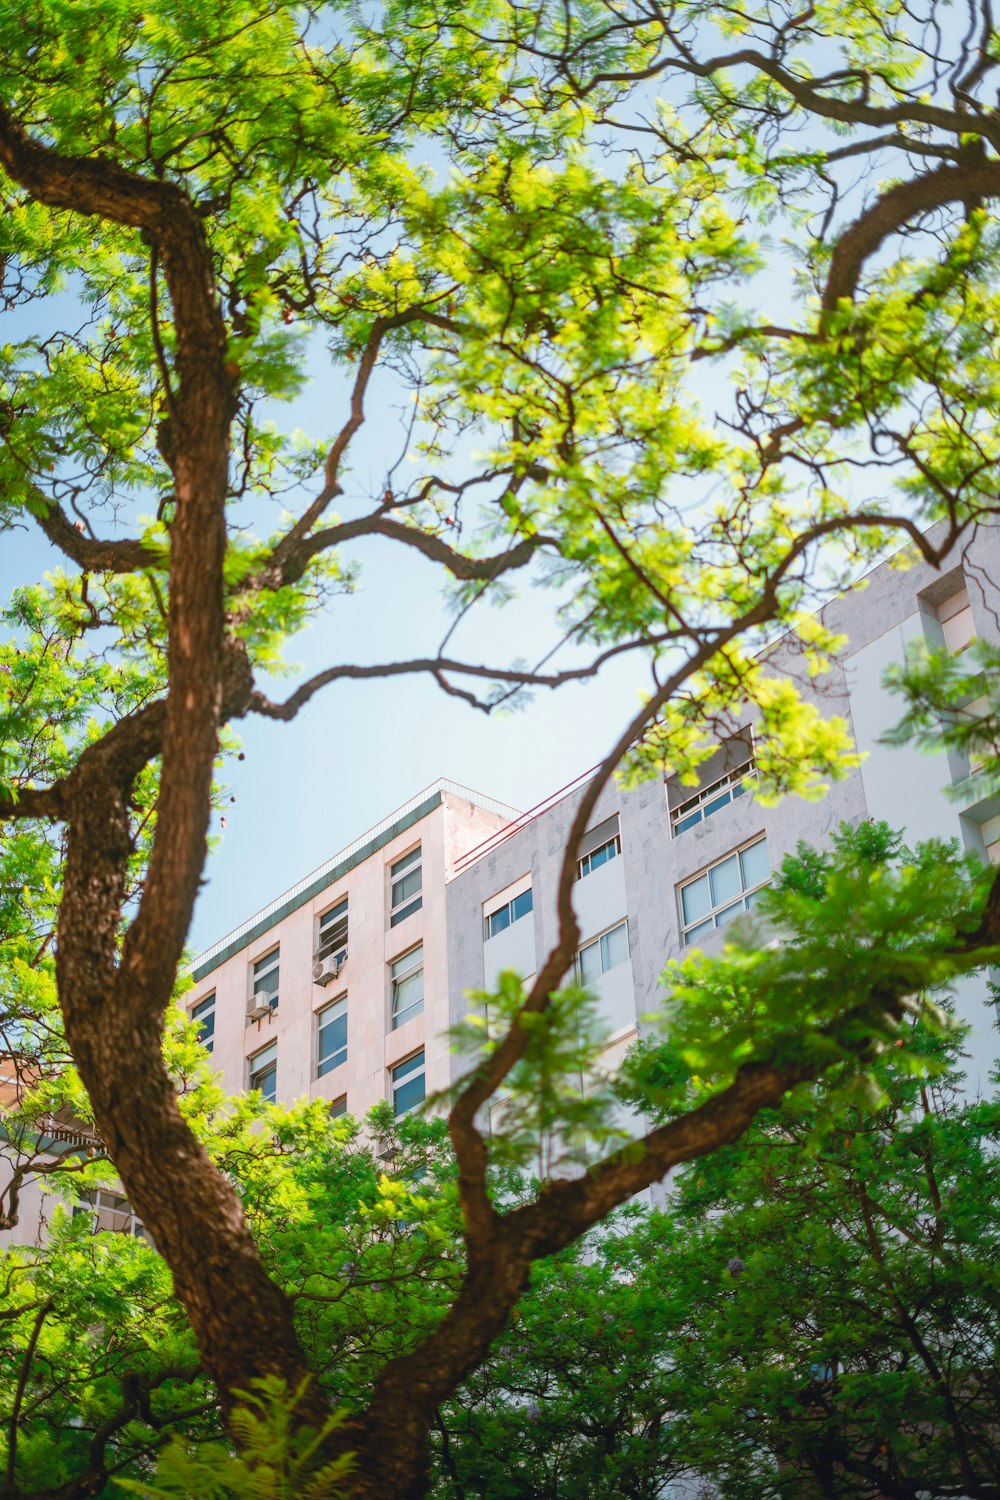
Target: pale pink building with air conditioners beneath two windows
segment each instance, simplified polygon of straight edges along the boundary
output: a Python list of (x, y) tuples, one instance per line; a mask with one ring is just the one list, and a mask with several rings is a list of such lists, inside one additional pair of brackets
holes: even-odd
[(438, 782), (202, 952), (187, 1004), (223, 1086), (354, 1114), (447, 1088), (445, 892), (516, 816)]

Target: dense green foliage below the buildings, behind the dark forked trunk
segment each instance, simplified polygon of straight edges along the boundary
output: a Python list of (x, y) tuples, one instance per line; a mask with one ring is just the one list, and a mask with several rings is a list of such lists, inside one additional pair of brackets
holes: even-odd
[[(843, 902), (867, 924), (843, 939), (861, 962), (876, 914), (885, 924), (901, 903), (919, 904), (924, 936), (919, 924), (906, 930), (927, 942), (981, 879), (955, 850), (903, 850), (885, 825), (801, 848), (765, 908), (787, 952), (774, 972), (801, 972), (820, 930), (828, 942), (843, 934)], [(760, 936), (750, 926), (721, 957), (678, 970), (685, 1005), (702, 1006), (705, 1048), (693, 1052), (694, 1022), (651, 1035), (631, 1054), (622, 1104), (655, 1122), (720, 1086), (714, 1070), (724, 1077), (732, 1059), (714, 1056), (708, 1022), (721, 1004), (741, 1014)], [(831, 975), (843, 982), (840, 968)], [(522, 1068), (526, 1100), (549, 1098), (553, 1058), (579, 1068), (577, 1024), (579, 1011), (567, 1014), (567, 1036), (540, 1044), (534, 1076)], [(819, 1098), (789, 1095), (738, 1144), (676, 1174), (657, 1208), (633, 1204), (540, 1262), (487, 1359), (438, 1410), (429, 1492), (655, 1500), (696, 1473), (741, 1500), (990, 1494), (1000, 1479), (1000, 1098), (958, 1090), (961, 1034), (946, 1012), (925, 1008), (879, 1046), (874, 1094), (858, 1094), (844, 1056)], [(226, 1101), (186, 1026), (169, 1065), (294, 1299), (331, 1408), (363, 1404), (460, 1281), (444, 1122), (394, 1120), (384, 1106), (361, 1131), (319, 1102)], [(508, 1156), (493, 1192), (513, 1208), (534, 1191), (523, 1116), (510, 1122)], [(93, 1164), (93, 1180), (102, 1170)], [(94, 1444), (109, 1474), (150, 1497), (339, 1492), (343, 1470), (324, 1470), (279, 1388), (250, 1392), (238, 1450), (222, 1440), (150, 1245), (57, 1214), (48, 1245), (4, 1252), (3, 1275), (0, 1422), (16, 1432), (22, 1492), (66, 1484)]]

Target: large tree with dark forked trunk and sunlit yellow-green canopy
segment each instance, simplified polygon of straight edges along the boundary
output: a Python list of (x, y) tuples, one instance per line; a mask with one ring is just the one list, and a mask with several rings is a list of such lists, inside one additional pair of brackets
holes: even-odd
[[(615, 766), (693, 774), (751, 702), (762, 788), (816, 789), (846, 764), (846, 728), (756, 646), (787, 627), (820, 669), (835, 642), (804, 610), (831, 572), (900, 536), (937, 562), (996, 513), (994, 44), (984, 9), (948, 56), (936, 15), (75, 0), (0, 16), (4, 298), (37, 318), (0, 352), (0, 504), (73, 568), (13, 602), (0, 816), (15, 848), (51, 830), (31, 858), (58, 867), (66, 1041), (229, 1412), (259, 1378), (301, 1388), (315, 1428), (328, 1406), (162, 1060), (223, 726), (288, 718), (352, 676), (423, 672), (489, 706), (627, 651), (649, 662), (574, 819), (559, 940), (451, 1106), (454, 1300), (331, 1438), (360, 1497), (420, 1492), (433, 1414), (534, 1262), (844, 1050), (864, 1064), (913, 988), (993, 952), (1000, 891), (979, 888), (916, 921), (906, 962), (844, 974), (817, 942), (817, 972), (844, 986), (811, 1029), (777, 972), (768, 1024), (736, 1026), (687, 1114), (510, 1212), (490, 1197), (477, 1119), (565, 993), (574, 848)], [(654, 100), (651, 80), (691, 96)], [(879, 164), (900, 180), (868, 189)], [(757, 291), (765, 224), (802, 267), (774, 318), (735, 306)], [(310, 338), (345, 420), (303, 444), (262, 404), (295, 392)], [(696, 408), (709, 368), (733, 376), (715, 418)], [(418, 464), (337, 518), (378, 370), (417, 394)], [(294, 508), (258, 543), (237, 496)], [(333, 642), (330, 668), (273, 702), (280, 638), (349, 586), (360, 537), (436, 562), (460, 608), (541, 574), (589, 656), (372, 664)]]

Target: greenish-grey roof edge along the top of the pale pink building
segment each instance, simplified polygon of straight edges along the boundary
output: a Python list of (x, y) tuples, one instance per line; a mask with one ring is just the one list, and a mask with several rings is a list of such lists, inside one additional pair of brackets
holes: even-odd
[(274, 927), (282, 918), (288, 916), (298, 906), (312, 900), (318, 896), (327, 885), (331, 885), (342, 874), (346, 874), (349, 868), (360, 864), (361, 860), (367, 860), (369, 855), (375, 854), (379, 848), (390, 843), (397, 834), (405, 832), (412, 824), (418, 822), (420, 818), (426, 818), (427, 813), (433, 812), (444, 798), (445, 794), (451, 796), (460, 796), (466, 802), (472, 802), (475, 807), (483, 807), (486, 812), (496, 813), (498, 818), (516, 819), (520, 818), (520, 812), (516, 807), (510, 807), (507, 802), (498, 801), (495, 796), (484, 796), (481, 792), (475, 792), (469, 786), (462, 786), (459, 782), (451, 782), (448, 777), (438, 777), (430, 786), (426, 786), (421, 792), (408, 798), (400, 807), (396, 807), (385, 818), (379, 819), (357, 838), (352, 838), (349, 844), (339, 849), (330, 860), (324, 860), (321, 866), (316, 866), (307, 876), (297, 880), (280, 896), (276, 896), (273, 902), (262, 906), (259, 910), (247, 916), (246, 921), (240, 922), (231, 932), (220, 938), (217, 942), (211, 944), (202, 952), (192, 958), (189, 969), (195, 981), (204, 980), (207, 974), (217, 969), (220, 963), (229, 958), (240, 948), (246, 948), (247, 944), (253, 942), (255, 938), (265, 933), (268, 927)]

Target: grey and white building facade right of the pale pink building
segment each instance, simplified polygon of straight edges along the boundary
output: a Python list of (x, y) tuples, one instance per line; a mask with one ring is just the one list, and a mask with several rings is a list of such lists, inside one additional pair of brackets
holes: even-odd
[[(721, 946), (726, 922), (753, 906), (799, 840), (822, 846), (841, 822), (885, 819), (910, 843), (958, 838), (984, 860), (1000, 858), (1000, 802), (984, 795), (975, 766), (954, 753), (883, 741), (903, 716), (883, 676), (913, 640), (952, 652), (975, 639), (1000, 644), (1000, 531), (981, 528), (940, 572), (886, 562), (828, 606), (823, 620), (847, 644), (816, 684), (795, 652), (781, 644), (771, 652), (775, 670), (795, 674), (823, 714), (847, 720), (861, 752), (859, 768), (822, 801), (757, 802), (751, 712), (705, 762), (697, 788), (646, 782), (628, 792), (612, 784), (601, 795), (577, 855), (574, 910), (577, 969), (598, 998), (609, 1068), (637, 1038), (642, 1017), (658, 1008), (667, 962), (690, 944)], [(490, 988), (504, 968), (534, 974), (553, 946), (559, 868), (585, 784), (459, 860), (447, 888), (453, 1024), (466, 1014), (466, 992)], [(957, 986), (957, 1010), (972, 1028), (966, 1074), (976, 1092), (1000, 1056), (985, 980)]]

